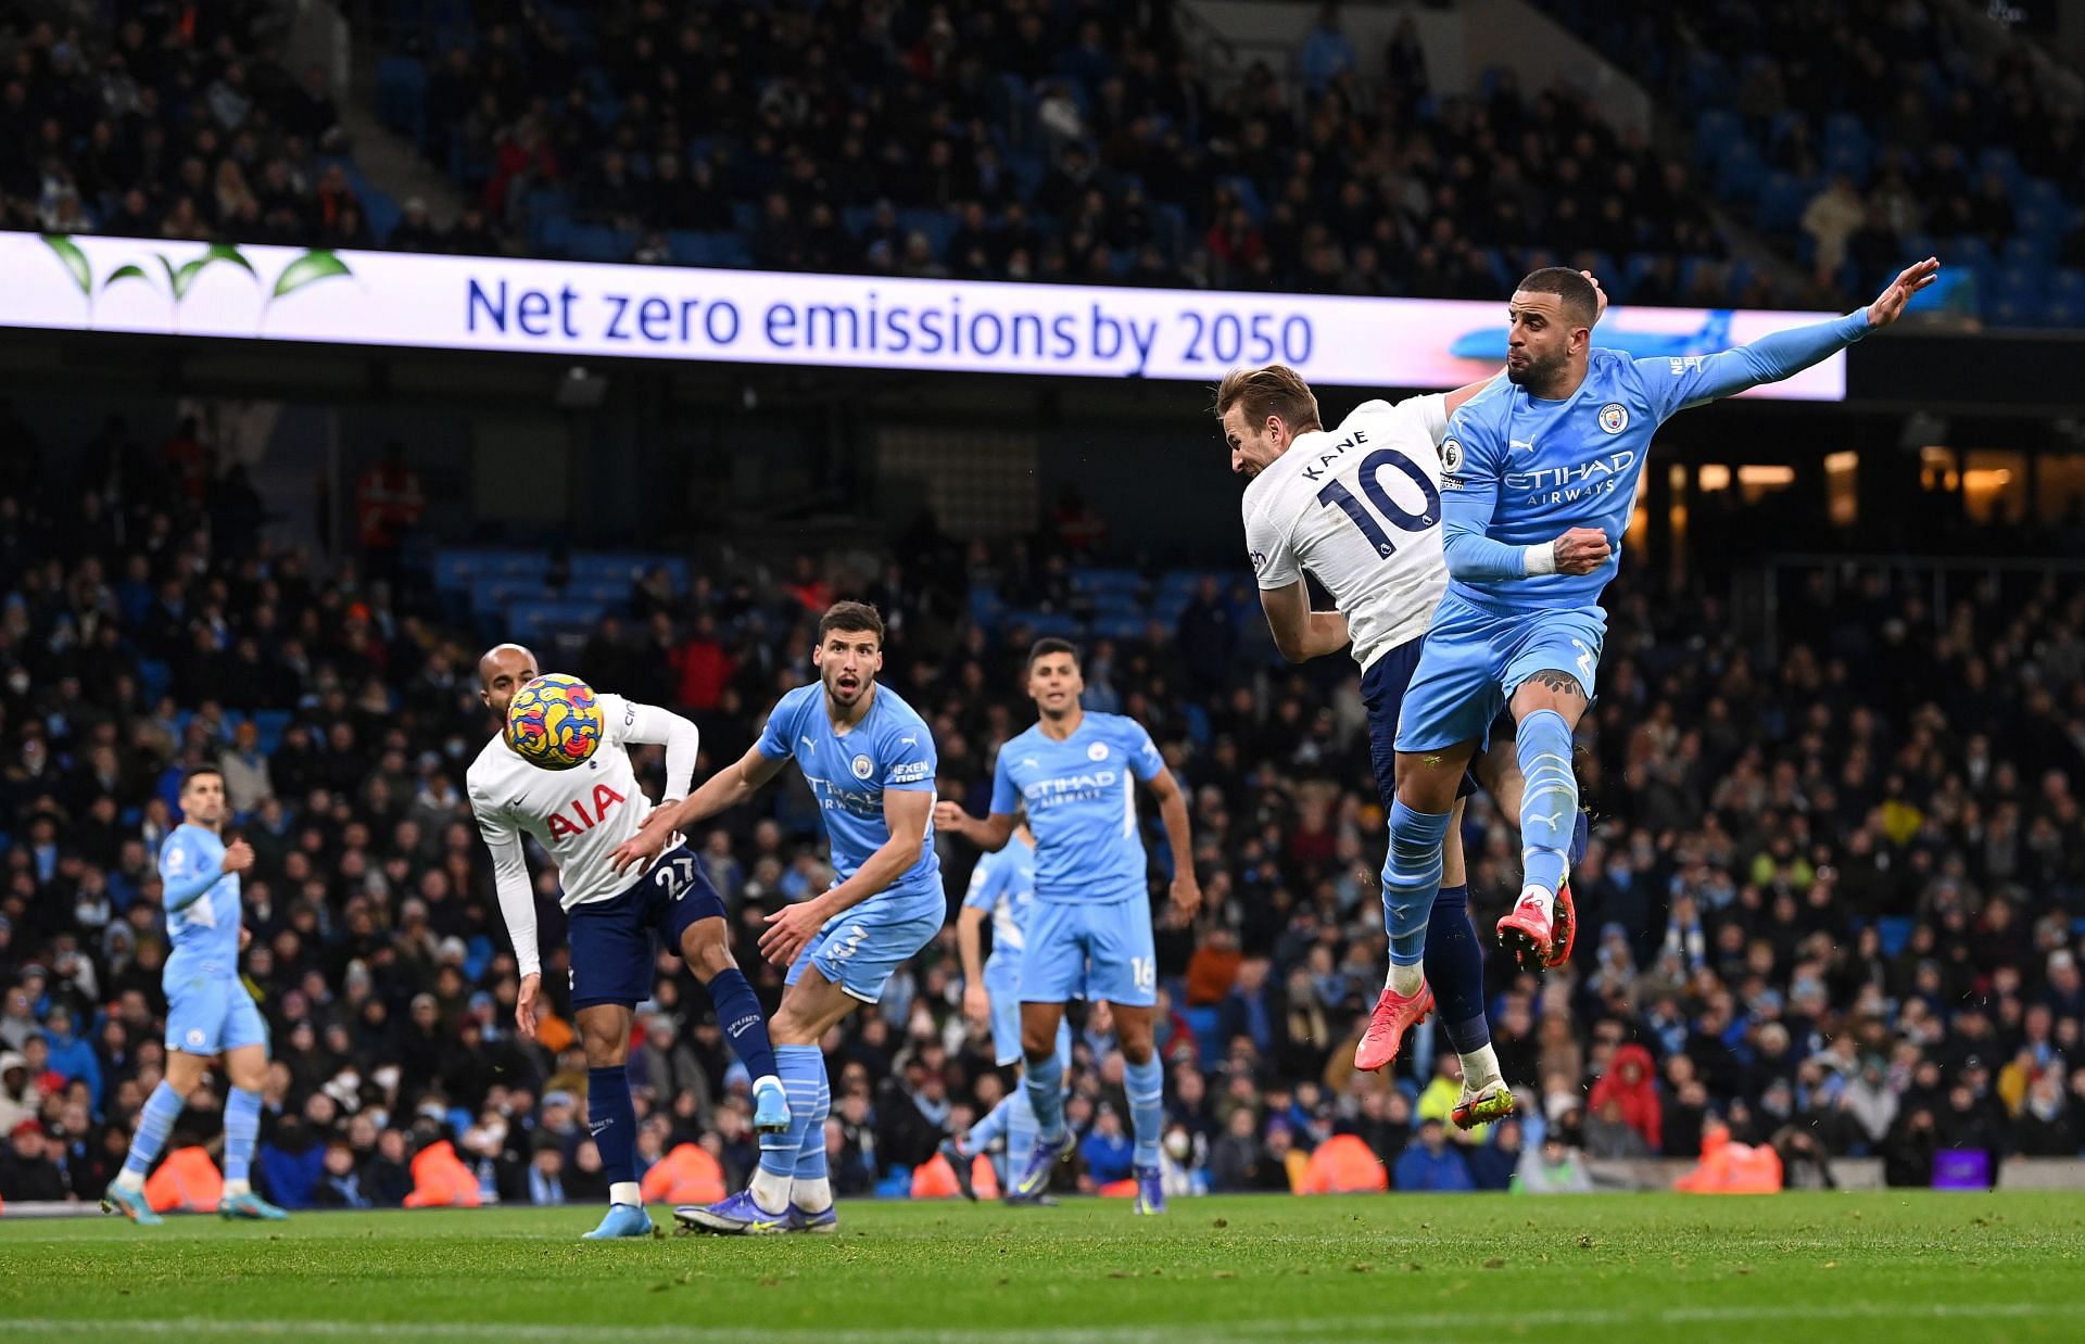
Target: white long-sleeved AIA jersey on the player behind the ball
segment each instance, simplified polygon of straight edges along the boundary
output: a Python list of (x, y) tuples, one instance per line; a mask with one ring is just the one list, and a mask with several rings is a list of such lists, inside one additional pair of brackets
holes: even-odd
[[(651, 798), (630, 769), (630, 742), (665, 744), (665, 794), (686, 798), (694, 781), (701, 736), (694, 723), (669, 711), (600, 696), (600, 746), (569, 771), (546, 771), (523, 761), (505, 738), (492, 738), (471, 763), (467, 788), (477, 829), (492, 850), (500, 915), (515, 944), (521, 973), (538, 969), (536, 896), (528, 877), (521, 831), (557, 863), (559, 904), (609, 900), (630, 890), (640, 873), (617, 873), (615, 846), (630, 840), (653, 813)], [(525, 942), (525, 946), (523, 946)]]

